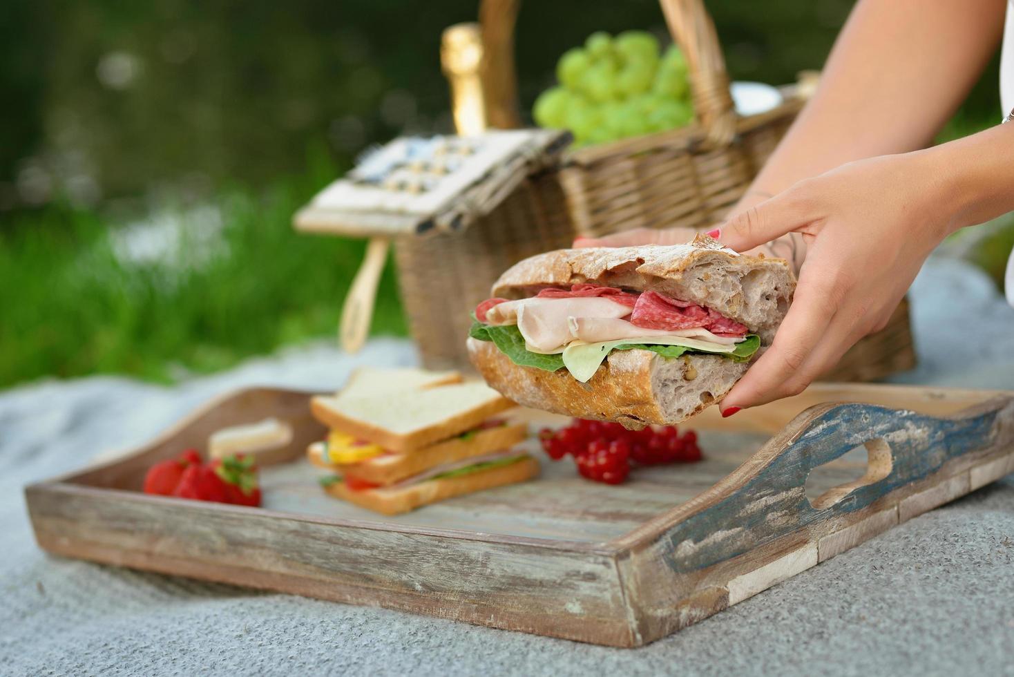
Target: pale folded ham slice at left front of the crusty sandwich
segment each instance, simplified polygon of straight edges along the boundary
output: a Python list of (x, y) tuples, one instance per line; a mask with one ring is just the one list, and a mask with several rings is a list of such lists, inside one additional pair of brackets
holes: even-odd
[[(503, 308), (501, 303), (495, 309)], [(605, 297), (531, 298), (518, 305), (517, 328), (535, 352), (553, 352), (569, 344), (570, 317), (626, 317), (629, 306)]]

